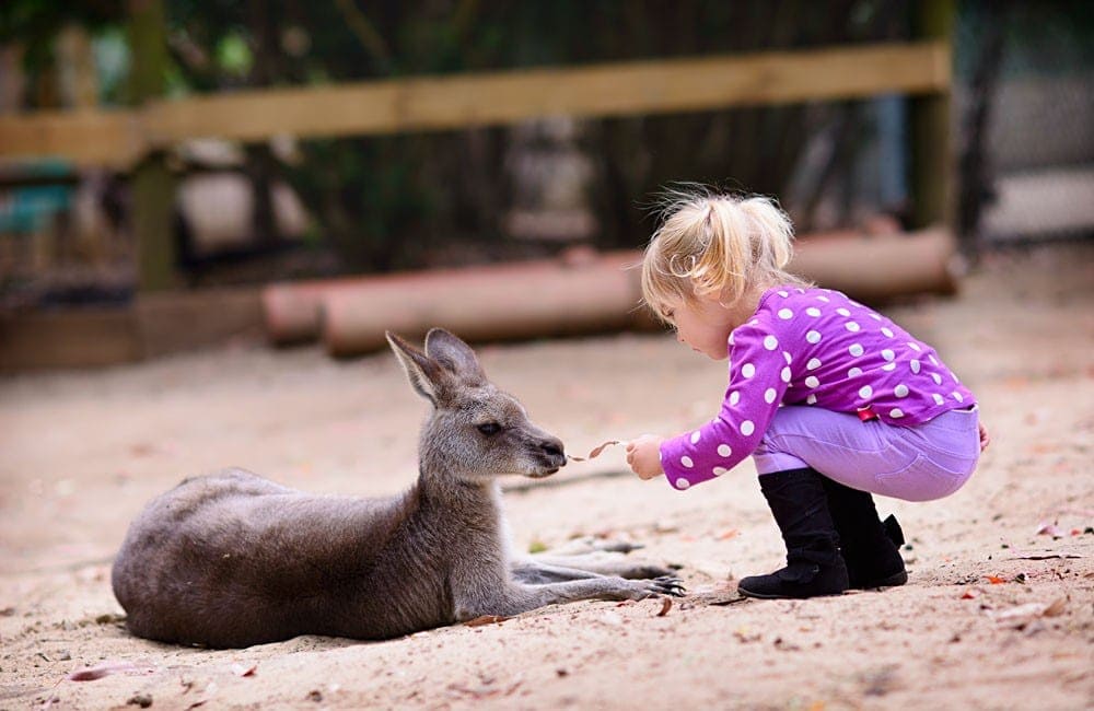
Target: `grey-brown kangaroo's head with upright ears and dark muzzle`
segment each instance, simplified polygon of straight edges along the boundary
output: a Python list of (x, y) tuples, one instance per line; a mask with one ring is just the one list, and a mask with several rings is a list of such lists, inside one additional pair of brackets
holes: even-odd
[(546, 477), (566, 465), (562, 442), (487, 380), (467, 343), (442, 328), (426, 335), (424, 352), (392, 333), (387, 341), (410, 385), (433, 405), (419, 443), (423, 476), (481, 482), (503, 474)]

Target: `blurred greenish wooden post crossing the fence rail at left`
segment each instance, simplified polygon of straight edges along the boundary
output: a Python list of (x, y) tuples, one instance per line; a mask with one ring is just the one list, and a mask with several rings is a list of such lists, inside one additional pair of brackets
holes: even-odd
[[(133, 106), (163, 94), (167, 66), (163, 0), (128, 0), (130, 92)], [(172, 235), (175, 180), (161, 151), (153, 151), (132, 172), (132, 229), (137, 240), (138, 288), (142, 292), (177, 283)]]

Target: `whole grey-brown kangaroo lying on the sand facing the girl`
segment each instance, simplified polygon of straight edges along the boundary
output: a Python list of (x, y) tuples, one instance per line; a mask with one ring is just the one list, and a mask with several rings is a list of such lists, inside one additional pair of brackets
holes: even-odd
[(114, 562), (133, 634), (210, 648), (300, 634), (382, 640), (556, 603), (683, 593), (667, 569), (616, 564), (620, 574), (605, 575), (513, 559), (498, 477), (555, 474), (562, 442), (494, 387), (456, 336), (430, 330), (424, 352), (387, 340), (432, 404), (417, 482), (353, 499), (235, 468), (184, 480), (133, 521)]

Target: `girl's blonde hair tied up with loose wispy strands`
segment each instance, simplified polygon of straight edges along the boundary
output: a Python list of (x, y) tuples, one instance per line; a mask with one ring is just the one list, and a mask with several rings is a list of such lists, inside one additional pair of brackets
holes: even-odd
[(773, 200), (690, 187), (666, 193), (662, 205), (642, 258), (642, 301), (659, 318), (709, 294), (732, 303), (753, 285), (808, 285), (784, 269), (793, 228)]

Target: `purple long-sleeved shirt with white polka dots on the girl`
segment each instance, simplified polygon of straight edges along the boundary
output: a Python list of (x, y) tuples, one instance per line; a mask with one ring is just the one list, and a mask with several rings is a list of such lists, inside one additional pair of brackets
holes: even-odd
[(668, 482), (687, 489), (725, 474), (759, 445), (783, 404), (910, 427), (976, 399), (933, 348), (885, 316), (838, 291), (777, 287), (730, 334), (718, 417), (662, 443)]

